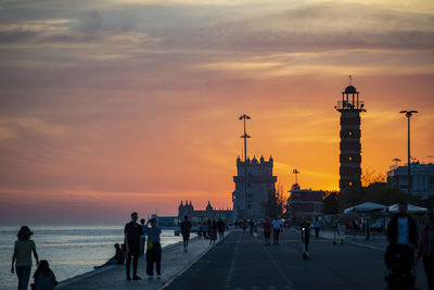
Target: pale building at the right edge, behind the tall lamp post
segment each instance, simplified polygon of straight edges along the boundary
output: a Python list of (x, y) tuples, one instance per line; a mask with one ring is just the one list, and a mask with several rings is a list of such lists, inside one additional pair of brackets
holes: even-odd
[[(408, 165), (391, 166), (387, 172), (387, 184), (398, 186), (404, 192), (408, 189)], [(411, 169), (411, 192), (422, 199), (434, 199), (434, 164), (413, 162)]]

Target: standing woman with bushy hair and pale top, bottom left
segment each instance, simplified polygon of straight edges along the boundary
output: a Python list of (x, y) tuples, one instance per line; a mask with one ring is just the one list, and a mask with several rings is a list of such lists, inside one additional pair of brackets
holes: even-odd
[(15, 241), (14, 244), (11, 272), (14, 273), (14, 270), (16, 270), (16, 276), (18, 277), (18, 290), (26, 290), (28, 287), (31, 272), (31, 252), (34, 253), (36, 264), (39, 264), (35, 242), (30, 240), (33, 235), (34, 234), (27, 226), (21, 227), (16, 235), (18, 240)]

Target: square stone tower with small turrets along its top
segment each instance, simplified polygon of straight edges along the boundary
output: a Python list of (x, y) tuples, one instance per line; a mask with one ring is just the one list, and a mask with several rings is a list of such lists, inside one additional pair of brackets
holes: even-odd
[(276, 192), (277, 177), (272, 175), (273, 160), (261, 156), (246, 162), (237, 159), (235, 190), (232, 192), (234, 220), (258, 219), (265, 216), (268, 196)]

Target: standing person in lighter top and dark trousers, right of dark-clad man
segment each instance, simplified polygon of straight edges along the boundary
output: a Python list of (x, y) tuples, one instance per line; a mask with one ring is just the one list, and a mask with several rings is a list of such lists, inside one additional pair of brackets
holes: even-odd
[(154, 277), (154, 264), (156, 277), (159, 279), (162, 275), (162, 245), (159, 244), (159, 235), (162, 229), (157, 227), (156, 218), (148, 220), (151, 227), (146, 227), (148, 244), (146, 244), (146, 274), (148, 279)]

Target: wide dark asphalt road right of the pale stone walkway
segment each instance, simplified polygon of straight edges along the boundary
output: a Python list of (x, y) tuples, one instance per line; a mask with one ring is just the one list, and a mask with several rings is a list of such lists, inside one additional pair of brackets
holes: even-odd
[[(309, 261), (302, 259), (299, 234), (285, 230), (279, 245), (265, 247), (261, 232), (231, 232), (178, 276), (167, 289), (384, 289), (384, 243), (333, 245), (311, 239)], [(417, 286), (427, 289), (421, 265)]]

